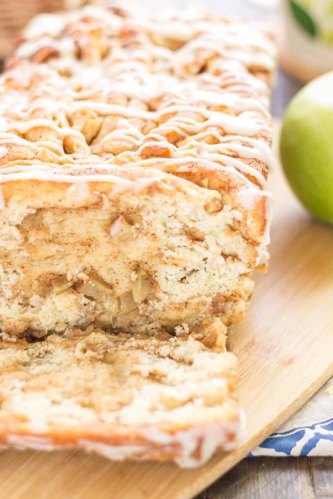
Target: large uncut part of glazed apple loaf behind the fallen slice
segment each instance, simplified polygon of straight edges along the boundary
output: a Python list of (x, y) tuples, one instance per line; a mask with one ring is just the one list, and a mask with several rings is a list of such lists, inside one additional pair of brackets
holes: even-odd
[(267, 259), (274, 56), (208, 14), (27, 26), (0, 78), (0, 331), (243, 318)]

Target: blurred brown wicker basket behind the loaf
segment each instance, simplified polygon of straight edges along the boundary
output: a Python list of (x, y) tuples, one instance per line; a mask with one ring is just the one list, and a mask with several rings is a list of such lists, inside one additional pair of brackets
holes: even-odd
[(0, 58), (9, 55), (20, 31), (39, 12), (68, 8), (66, 0), (0, 0)]

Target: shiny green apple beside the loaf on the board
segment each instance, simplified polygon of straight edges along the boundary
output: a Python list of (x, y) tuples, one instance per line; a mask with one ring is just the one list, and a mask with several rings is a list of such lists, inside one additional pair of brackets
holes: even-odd
[(333, 224), (333, 72), (306, 85), (291, 101), (280, 152), (301, 203), (316, 218)]

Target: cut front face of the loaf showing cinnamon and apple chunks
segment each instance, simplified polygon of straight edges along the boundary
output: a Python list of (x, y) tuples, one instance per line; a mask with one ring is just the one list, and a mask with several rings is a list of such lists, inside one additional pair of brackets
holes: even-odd
[[(234, 232), (221, 238), (233, 220), (229, 210), (217, 219), (190, 192), (170, 197), (157, 191), (139, 198), (128, 193), (104, 209), (97, 204), (50, 210), (50, 196), (41, 203), (44, 208), (17, 225), (22, 238), (16, 246), (0, 255), (0, 330), (8, 335), (43, 337), (89, 324), (128, 332), (165, 327), (187, 334), (186, 328), (204, 317), (217, 315), (225, 324), (243, 317), (253, 281), (246, 241)], [(135, 241), (123, 241), (120, 248), (108, 234), (110, 220), (116, 212), (134, 210), (149, 224), (140, 224)], [(184, 230), (189, 218), (193, 229), (204, 227), (203, 241), (193, 241)], [(50, 228), (55, 251), (51, 241), (34, 236), (33, 252), (29, 243), (28, 256), (21, 253), (29, 235), (50, 234)], [(227, 242), (239, 257), (222, 252)]]

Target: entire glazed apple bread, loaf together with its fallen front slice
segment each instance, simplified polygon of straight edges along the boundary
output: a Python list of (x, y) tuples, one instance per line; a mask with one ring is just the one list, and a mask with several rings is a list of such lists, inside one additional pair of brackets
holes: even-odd
[(237, 441), (235, 361), (202, 338), (243, 318), (266, 265), (275, 46), (163, 15), (36, 17), (0, 78), (6, 445), (189, 465)]

